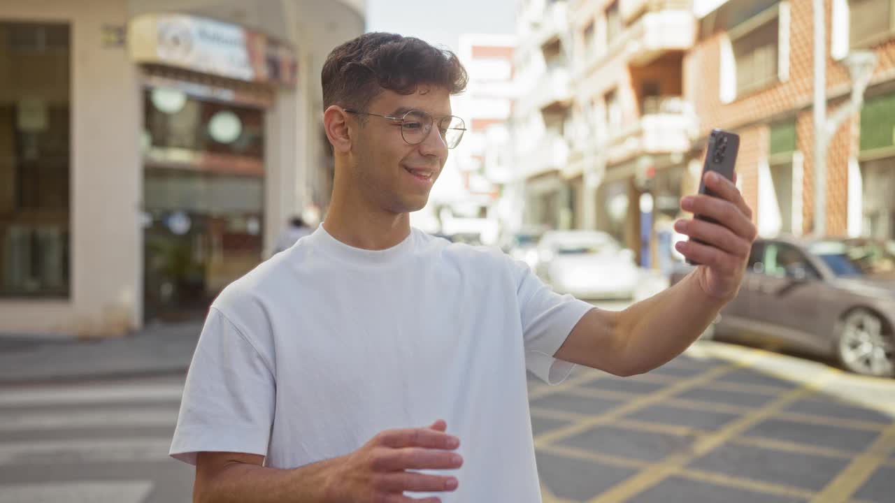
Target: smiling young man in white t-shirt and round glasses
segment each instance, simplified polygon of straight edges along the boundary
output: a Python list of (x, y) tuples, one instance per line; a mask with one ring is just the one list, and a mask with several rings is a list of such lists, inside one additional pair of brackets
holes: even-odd
[[(228, 286), (209, 311), (172, 456), (196, 501), (540, 501), (525, 370), (627, 376), (680, 354), (737, 294), (754, 240), (733, 183), (678, 222), (706, 264), (620, 312), (554, 294), (523, 262), (412, 229), (464, 132), (456, 56), (370, 33), (323, 68), (336, 158), (310, 236)], [(601, 281), (600, 277), (592, 278)]]

